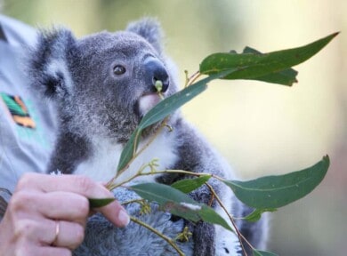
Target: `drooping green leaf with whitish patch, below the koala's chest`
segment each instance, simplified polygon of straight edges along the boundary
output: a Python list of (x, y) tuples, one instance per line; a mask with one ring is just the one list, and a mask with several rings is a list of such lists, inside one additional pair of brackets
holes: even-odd
[(141, 183), (131, 186), (130, 189), (149, 202), (156, 202), (165, 212), (193, 222), (204, 220), (232, 231), (229, 224), (214, 212), (214, 209), (194, 201), (180, 190), (160, 183)]

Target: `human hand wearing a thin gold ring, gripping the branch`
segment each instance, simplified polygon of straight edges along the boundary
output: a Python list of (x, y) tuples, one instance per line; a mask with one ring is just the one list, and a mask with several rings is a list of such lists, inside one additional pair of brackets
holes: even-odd
[[(71, 255), (85, 236), (87, 198), (105, 197), (113, 195), (84, 176), (24, 174), (0, 222), (0, 255)], [(129, 223), (117, 201), (94, 210), (117, 227)]]

